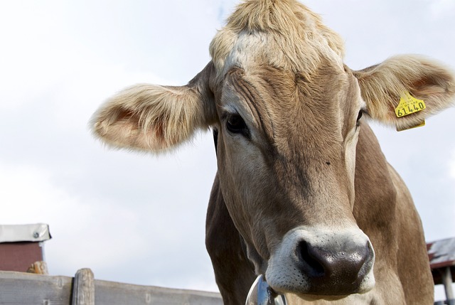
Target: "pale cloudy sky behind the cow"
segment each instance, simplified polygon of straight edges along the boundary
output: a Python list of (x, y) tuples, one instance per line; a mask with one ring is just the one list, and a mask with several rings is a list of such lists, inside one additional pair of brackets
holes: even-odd
[[(138, 82), (184, 85), (234, 0), (0, 1), (0, 223), (48, 223), (50, 274), (216, 291), (205, 210), (210, 133), (173, 154), (108, 149), (88, 121)], [(400, 53), (455, 69), (455, 1), (308, 0), (359, 70)], [(455, 109), (406, 132), (373, 124), (427, 241), (455, 236)], [(438, 290), (440, 294), (440, 287)]]

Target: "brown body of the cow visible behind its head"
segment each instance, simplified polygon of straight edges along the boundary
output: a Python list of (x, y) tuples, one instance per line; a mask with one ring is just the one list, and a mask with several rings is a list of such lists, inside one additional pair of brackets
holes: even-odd
[[(422, 225), (407, 188), (404, 193), (397, 189), (405, 185), (385, 161), (366, 122), (360, 129), (357, 156), (353, 213), (375, 247), (377, 286), (365, 296), (365, 301), (348, 299), (308, 304), (432, 304), (433, 281)], [(399, 239), (396, 238), (398, 232)], [(225, 304), (242, 304), (255, 274), (245, 263), (238, 232), (225, 208), (218, 176), (210, 196), (206, 244)], [(306, 303), (301, 301), (301, 304)]]

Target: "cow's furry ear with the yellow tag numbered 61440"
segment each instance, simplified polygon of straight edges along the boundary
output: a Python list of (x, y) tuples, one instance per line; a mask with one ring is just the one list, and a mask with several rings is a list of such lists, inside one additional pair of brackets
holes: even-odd
[(451, 71), (417, 55), (395, 56), (354, 75), (370, 117), (399, 130), (417, 126), (454, 103)]

